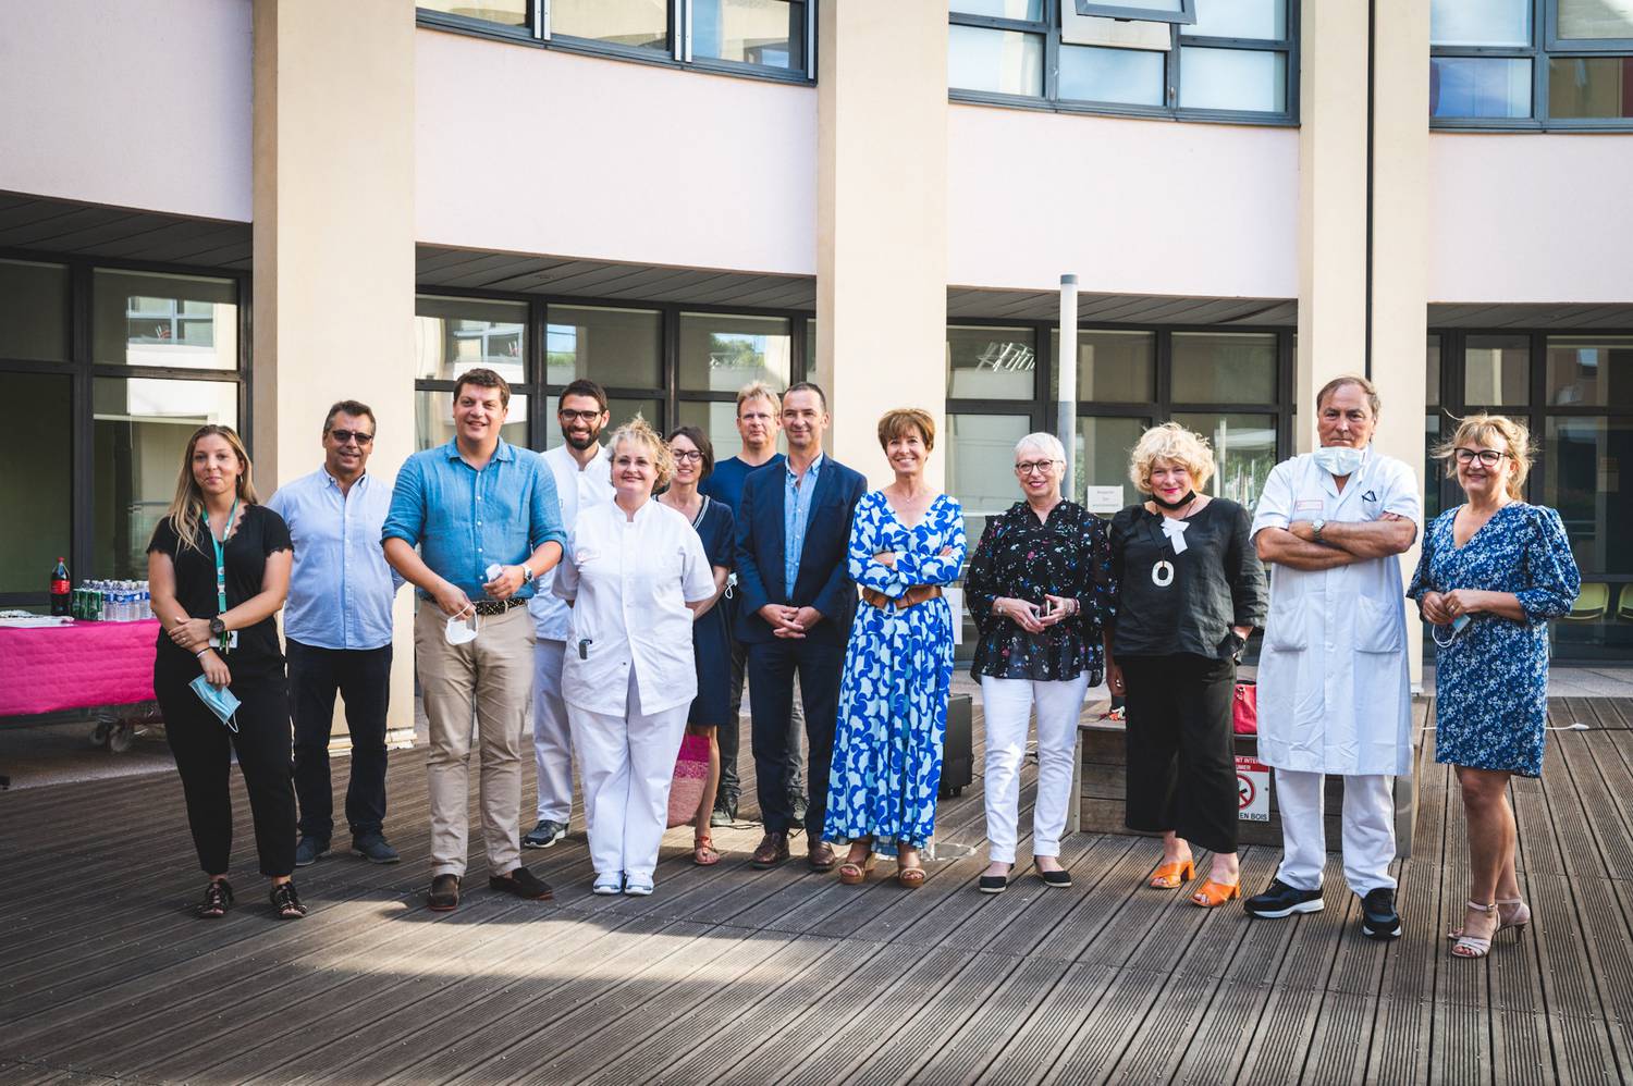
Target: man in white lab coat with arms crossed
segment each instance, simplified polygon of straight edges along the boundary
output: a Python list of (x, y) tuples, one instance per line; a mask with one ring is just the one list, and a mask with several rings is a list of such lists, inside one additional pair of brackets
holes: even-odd
[(1372, 447), (1378, 394), (1337, 377), (1316, 395), (1321, 447), (1277, 464), (1253, 521), (1270, 568), (1259, 656), (1259, 759), (1275, 768), (1282, 867), (1254, 916), (1321, 908), (1324, 774), (1344, 774), (1344, 879), (1360, 929), (1401, 932), (1391, 777), (1411, 772), (1411, 679), (1399, 554), (1422, 524), (1417, 477)]

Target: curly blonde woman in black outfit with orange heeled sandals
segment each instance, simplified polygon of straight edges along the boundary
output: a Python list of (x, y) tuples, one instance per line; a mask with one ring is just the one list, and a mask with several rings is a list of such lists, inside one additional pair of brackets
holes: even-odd
[(1128, 477), (1150, 500), (1112, 518), (1120, 598), (1106, 629), (1106, 678), (1127, 699), (1124, 821), (1163, 835), (1151, 887), (1195, 877), (1192, 844), (1213, 854), (1190, 895), (1204, 908), (1241, 897), (1231, 694), (1267, 599), (1248, 511), (1199, 493), (1212, 475), (1202, 436), (1177, 423), (1141, 434)]

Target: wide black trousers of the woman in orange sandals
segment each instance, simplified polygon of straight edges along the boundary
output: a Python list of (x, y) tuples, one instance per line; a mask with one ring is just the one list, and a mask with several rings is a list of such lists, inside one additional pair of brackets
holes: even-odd
[(1127, 697), (1130, 830), (1235, 852), (1239, 799), (1231, 740), (1236, 665), (1190, 653), (1119, 656)]

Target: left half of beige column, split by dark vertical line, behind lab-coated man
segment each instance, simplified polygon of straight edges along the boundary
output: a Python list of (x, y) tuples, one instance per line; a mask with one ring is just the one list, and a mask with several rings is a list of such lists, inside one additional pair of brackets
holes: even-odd
[[(1367, 372), (1367, 5), (1305, 3), (1298, 70), (1298, 405), (1315, 446), (1315, 390)], [(1427, 121), (1424, 121), (1427, 126)]]

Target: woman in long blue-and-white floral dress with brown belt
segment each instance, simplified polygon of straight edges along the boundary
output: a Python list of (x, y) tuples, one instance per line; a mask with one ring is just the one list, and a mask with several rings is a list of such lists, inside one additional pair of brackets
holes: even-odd
[(936, 831), (941, 745), (952, 684), (952, 609), (941, 586), (963, 565), (963, 510), (924, 483), (936, 444), (926, 412), (879, 420), (897, 480), (867, 493), (851, 524), (851, 578), (864, 604), (851, 624), (823, 839), (849, 843), (839, 880), (897, 854), (905, 887), (924, 882), (919, 849)]

